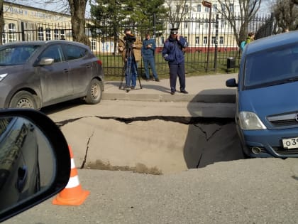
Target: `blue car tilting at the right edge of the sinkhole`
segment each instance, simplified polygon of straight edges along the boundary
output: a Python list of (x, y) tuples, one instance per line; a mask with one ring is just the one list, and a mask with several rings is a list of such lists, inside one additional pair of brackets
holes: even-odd
[(298, 31), (245, 46), (237, 87), (236, 127), (246, 155), (298, 157)]

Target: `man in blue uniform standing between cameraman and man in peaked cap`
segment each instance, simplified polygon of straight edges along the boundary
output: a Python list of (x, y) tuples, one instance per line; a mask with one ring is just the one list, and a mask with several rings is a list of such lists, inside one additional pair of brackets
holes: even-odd
[(150, 80), (149, 66), (148, 66), (150, 65), (154, 80), (156, 82), (159, 82), (160, 80), (158, 79), (158, 74), (156, 73), (156, 70), (155, 70), (155, 60), (154, 60), (155, 48), (156, 48), (155, 41), (152, 38), (150, 38), (150, 34), (147, 33), (141, 49), (142, 58), (144, 62), (145, 76), (147, 81)]

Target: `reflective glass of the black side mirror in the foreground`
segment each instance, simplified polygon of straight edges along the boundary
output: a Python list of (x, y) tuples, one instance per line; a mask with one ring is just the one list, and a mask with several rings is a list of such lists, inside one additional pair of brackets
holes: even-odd
[(40, 191), (38, 139), (33, 124), (21, 117), (0, 118), (0, 149), (1, 210)]

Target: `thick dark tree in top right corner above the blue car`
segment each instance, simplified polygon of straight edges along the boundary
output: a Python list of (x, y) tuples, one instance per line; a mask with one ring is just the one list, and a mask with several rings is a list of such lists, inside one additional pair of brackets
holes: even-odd
[(298, 28), (298, 6), (292, 0), (277, 0), (272, 7), (277, 25), (282, 31)]

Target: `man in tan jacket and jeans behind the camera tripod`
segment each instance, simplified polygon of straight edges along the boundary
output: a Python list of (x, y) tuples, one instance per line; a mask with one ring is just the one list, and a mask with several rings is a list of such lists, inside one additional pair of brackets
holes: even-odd
[(142, 43), (131, 33), (130, 28), (124, 30), (125, 36), (118, 42), (118, 50), (122, 53), (123, 63), (126, 63), (126, 88), (136, 87), (138, 61), (141, 58)]

